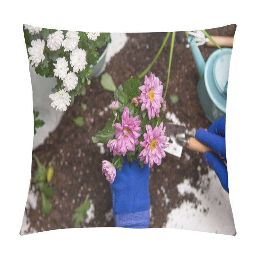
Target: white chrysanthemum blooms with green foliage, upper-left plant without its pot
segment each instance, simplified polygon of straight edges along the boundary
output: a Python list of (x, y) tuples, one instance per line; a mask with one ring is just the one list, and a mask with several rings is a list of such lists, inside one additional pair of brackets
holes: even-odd
[(111, 42), (110, 33), (37, 28), (27, 24), (23, 31), (28, 60), (36, 74), (56, 79), (49, 93), (51, 106), (66, 111), (76, 95), (85, 94), (93, 66), (107, 51), (105, 49), (100, 57), (98, 50)]

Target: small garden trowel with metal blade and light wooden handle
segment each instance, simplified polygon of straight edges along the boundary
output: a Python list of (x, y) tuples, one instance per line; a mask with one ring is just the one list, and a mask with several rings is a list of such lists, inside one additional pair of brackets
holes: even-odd
[(167, 137), (167, 143), (169, 143), (168, 148), (164, 148), (164, 151), (173, 155), (181, 156), (182, 148), (186, 146), (187, 148), (199, 151), (206, 152), (212, 151), (211, 148), (208, 148), (200, 141), (196, 140), (193, 137), (185, 137), (185, 128), (183, 124), (173, 124), (165, 123), (165, 136)]

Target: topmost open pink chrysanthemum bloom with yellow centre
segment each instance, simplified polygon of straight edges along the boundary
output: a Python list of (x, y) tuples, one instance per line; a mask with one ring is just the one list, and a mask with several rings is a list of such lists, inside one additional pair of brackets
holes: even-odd
[(153, 73), (148, 77), (145, 75), (144, 84), (139, 87), (141, 90), (140, 103), (141, 110), (147, 108), (148, 119), (154, 118), (156, 114), (159, 114), (161, 103), (164, 102), (163, 95), (163, 85), (162, 82)]

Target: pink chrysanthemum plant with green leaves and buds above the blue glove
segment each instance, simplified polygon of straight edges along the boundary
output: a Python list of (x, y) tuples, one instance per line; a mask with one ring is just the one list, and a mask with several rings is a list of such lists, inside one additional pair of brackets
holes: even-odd
[(112, 113), (103, 130), (98, 131), (92, 141), (107, 144), (113, 153), (112, 163), (104, 160), (102, 171), (112, 183), (116, 169), (122, 170), (124, 157), (132, 163), (140, 159), (140, 166), (160, 165), (168, 147), (165, 127), (160, 112), (166, 110), (163, 85), (158, 77), (145, 75), (144, 84), (140, 78), (131, 77), (124, 87), (120, 85), (114, 92), (111, 103)]

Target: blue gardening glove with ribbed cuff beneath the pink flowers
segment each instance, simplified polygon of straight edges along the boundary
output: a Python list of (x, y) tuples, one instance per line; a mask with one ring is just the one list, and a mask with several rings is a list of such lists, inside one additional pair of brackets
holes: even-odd
[(140, 160), (129, 163), (124, 157), (121, 172), (110, 189), (116, 227), (148, 228), (149, 226), (149, 167), (140, 167)]

